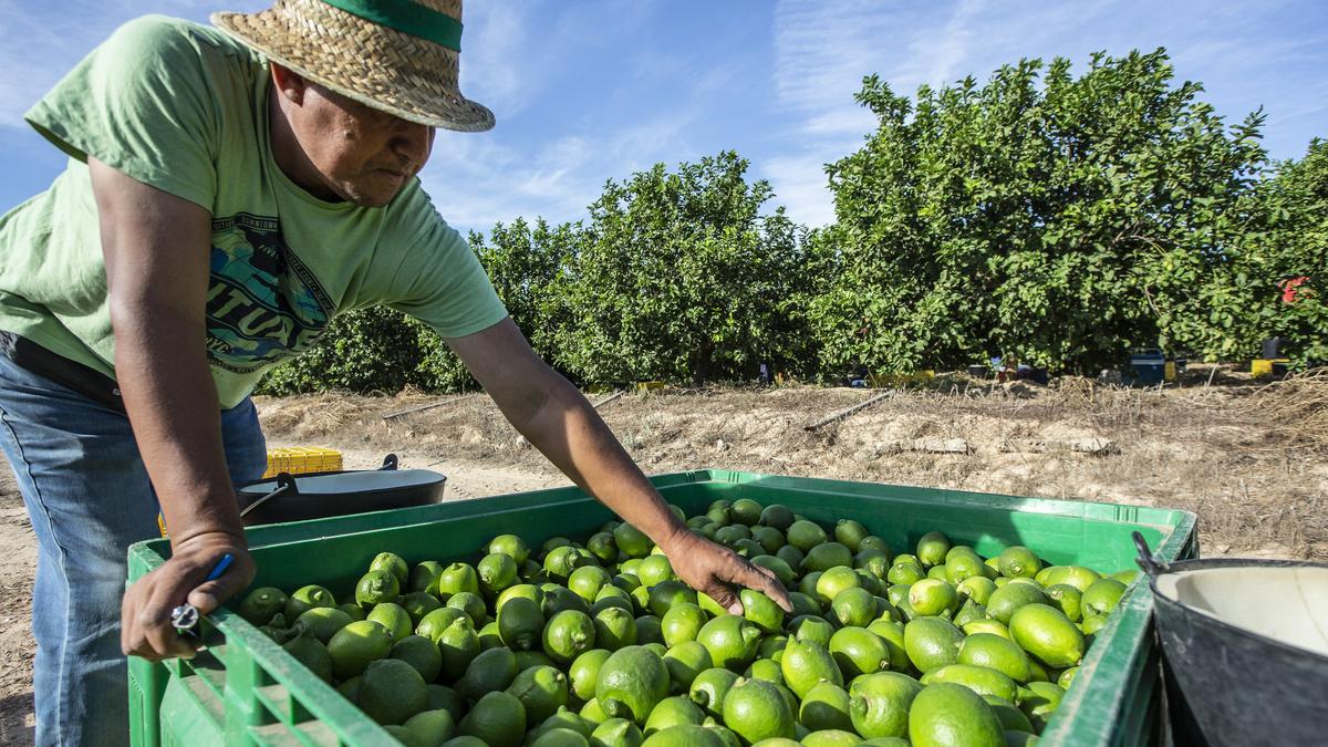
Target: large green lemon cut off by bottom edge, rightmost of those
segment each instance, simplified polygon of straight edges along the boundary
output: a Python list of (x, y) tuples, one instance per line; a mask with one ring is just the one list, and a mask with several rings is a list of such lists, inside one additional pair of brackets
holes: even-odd
[(1005, 730), (980, 695), (939, 682), (914, 698), (908, 740), (915, 747), (1005, 747)]

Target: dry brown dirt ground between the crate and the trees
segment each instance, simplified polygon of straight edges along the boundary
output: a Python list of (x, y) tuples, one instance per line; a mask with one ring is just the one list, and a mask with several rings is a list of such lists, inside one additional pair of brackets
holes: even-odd
[[(803, 428), (878, 393), (681, 389), (622, 396), (600, 412), (648, 473), (721, 467), (1181, 508), (1198, 513), (1204, 556), (1328, 560), (1328, 376), (1264, 387), (1197, 368), (1166, 389), (957, 377)], [(442, 404), (384, 419), (432, 403)], [(339, 448), (347, 468), (394, 452), (404, 468), (448, 475), (450, 500), (567, 484), (483, 395), (258, 404), (271, 447)], [(36, 542), (8, 469), (0, 546), (0, 743), (25, 744)]]

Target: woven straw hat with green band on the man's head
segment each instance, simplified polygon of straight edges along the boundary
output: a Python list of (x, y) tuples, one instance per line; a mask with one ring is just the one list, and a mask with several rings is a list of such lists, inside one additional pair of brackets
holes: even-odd
[(461, 0), (276, 0), (212, 23), (274, 62), (402, 120), (461, 132), (494, 126), (457, 88)]

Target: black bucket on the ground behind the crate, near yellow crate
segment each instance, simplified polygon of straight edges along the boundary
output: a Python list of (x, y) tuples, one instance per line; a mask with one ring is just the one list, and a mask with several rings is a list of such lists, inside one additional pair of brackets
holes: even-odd
[(378, 469), (313, 472), (240, 485), (236, 498), (248, 525), (304, 521), (436, 504), (448, 479), (428, 469), (397, 469), (388, 455)]

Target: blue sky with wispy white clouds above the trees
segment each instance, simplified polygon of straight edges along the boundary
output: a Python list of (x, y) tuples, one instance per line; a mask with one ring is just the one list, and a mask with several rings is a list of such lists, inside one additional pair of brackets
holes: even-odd
[[(252, 0), (0, 0), (0, 210), (45, 189), (62, 157), (23, 112), (118, 24), (149, 12), (205, 20)], [(871, 116), (866, 73), (896, 92), (1019, 57), (1166, 47), (1228, 121), (1263, 105), (1264, 144), (1300, 157), (1328, 137), (1323, 0), (469, 0), (462, 90), (489, 105), (483, 134), (440, 132), (422, 173), (453, 225), (584, 217), (606, 179), (736, 149), (776, 203), (834, 219), (822, 165), (853, 152)]]

